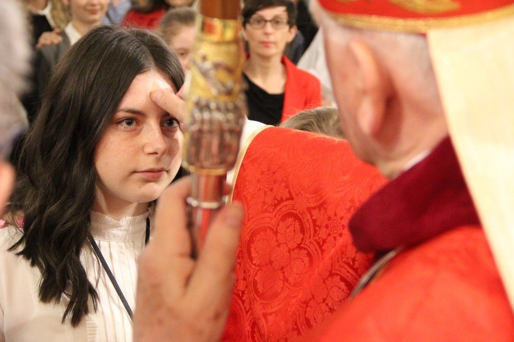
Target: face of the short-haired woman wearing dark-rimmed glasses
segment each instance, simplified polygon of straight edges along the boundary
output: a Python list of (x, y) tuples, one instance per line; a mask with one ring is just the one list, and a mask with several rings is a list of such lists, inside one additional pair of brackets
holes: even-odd
[[(250, 19), (261, 19), (264, 21), (271, 21), (273, 19), (280, 19), (281, 21), (288, 21), (287, 10), (285, 6), (277, 6), (264, 8), (254, 13)], [(295, 38), (296, 26), (275, 28), (270, 22), (266, 22), (263, 27), (256, 28), (247, 23), (242, 30), (243, 37), (248, 42), (248, 47), (252, 56), (254, 54), (262, 57), (273, 57), (284, 54), (286, 45)]]

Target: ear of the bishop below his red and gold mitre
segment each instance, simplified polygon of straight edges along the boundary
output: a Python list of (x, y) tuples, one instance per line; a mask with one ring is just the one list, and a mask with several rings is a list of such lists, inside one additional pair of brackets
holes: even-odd
[(352, 40), (349, 48), (356, 67), (356, 86), (360, 93), (356, 121), (365, 134), (377, 136), (387, 114), (391, 79), (366, 42)]

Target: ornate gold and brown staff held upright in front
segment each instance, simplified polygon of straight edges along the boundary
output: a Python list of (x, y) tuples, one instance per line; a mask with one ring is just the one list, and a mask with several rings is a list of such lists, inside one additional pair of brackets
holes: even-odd
[(183, 166), (193, 188), (187, 203), (194, 254), (223, 205), (223, 183), (236, 163), (247, 106), (239, 0), (204, 0), (197, 18), (193, 63), (186, 80)]

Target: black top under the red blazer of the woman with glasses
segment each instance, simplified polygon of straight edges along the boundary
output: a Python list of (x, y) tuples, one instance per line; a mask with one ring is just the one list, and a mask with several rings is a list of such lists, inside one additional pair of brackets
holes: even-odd
[(267, 125), (278, 125), (282, 119), (284, 93), (269, 94), (250, 81), (245, 73), (243, 73), (243, 77), (247, 83), (245, 95), (248, 102), (248, 119)]

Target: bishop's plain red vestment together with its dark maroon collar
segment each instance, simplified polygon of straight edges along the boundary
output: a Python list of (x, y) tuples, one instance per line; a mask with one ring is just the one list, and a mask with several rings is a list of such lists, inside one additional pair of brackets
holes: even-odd
[(404, 246), (306, 341), (512, 341), (514, 317), (450, 139), (350, 222), (368, 252)]

